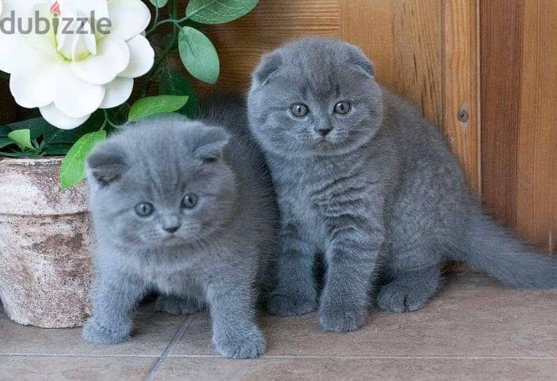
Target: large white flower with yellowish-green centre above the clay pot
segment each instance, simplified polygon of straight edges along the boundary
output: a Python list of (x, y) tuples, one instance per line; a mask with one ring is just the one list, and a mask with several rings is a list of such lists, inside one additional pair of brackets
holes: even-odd
[[(49, 123), (73, 129), (97, 108), (123, 104), (134, 78), (151, 69), (155, 52), (142, 35), (151, 15), (141, 0), (57, 3), (59, 8), (55, 0), (0, 0), (0, 19), (12, 11), (23, 19), (21, 30), (15, 22), (15, 34), (0, 29), (0, 70), (11, 74), (17, 104), (38, 107)], [(51, 12), (58, 9), (61, 15), (55, 17)], [(48, 33), (37, 33), (36, 14), (45, 19), (40, 28), (51, 26)], [(24, 33), (29, 28), (32, 33)]]

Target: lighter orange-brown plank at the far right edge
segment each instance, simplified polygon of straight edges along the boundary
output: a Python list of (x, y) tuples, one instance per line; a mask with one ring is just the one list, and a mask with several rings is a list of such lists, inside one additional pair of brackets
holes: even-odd
[(526, 1), (517, 145), (517, 230), (556, 249), (557, 2)]

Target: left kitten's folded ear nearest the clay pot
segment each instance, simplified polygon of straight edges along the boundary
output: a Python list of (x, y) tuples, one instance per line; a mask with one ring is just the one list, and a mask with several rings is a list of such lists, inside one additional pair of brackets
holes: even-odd
[(101, 186), (106, 186), (127, 171), (127, 159), (121, 147), (106, 142), (98, 145), (93, 154), (87, 158), (87, 168), (92, 177)]

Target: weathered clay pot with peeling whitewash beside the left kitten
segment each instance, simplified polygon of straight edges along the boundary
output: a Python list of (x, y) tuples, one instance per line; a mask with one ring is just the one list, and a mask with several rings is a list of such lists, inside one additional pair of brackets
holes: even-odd
[(76, 327), (91, 314), (86, 184), (63, 190), (61, 158), (0, 158), (0, 299), (17, 323)]

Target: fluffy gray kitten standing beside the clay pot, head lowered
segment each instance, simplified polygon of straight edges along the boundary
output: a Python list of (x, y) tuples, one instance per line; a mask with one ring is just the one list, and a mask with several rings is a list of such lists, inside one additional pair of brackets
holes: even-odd
[(154, 290), (157, 307), (174, 314), (207, 304), (221, 355), (265, 351), (256, 298), (278, 241), (274, 190), (244, 104), (214, 104), (208, 125), (146, 120), (89, 156), (97, 278), (87, 341), (129, 339), (132, 310)]

